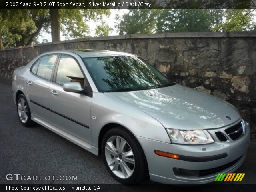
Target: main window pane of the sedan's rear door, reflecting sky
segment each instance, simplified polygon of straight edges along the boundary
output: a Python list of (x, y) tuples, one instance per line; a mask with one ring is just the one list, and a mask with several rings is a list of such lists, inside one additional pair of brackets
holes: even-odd
[(38, 66), (37, 75), (50, 80), (57, 57), (58, 55), (48, 55), (42, 57)]

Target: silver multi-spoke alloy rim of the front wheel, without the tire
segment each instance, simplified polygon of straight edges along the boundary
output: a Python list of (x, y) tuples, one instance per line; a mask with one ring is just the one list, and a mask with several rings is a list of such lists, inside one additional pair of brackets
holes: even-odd
[(119, 178), (129, 178), (135, 168), (135, 159), (132, 148), (120, 136), (110, 137), (105, 146), (105, 156), (108, 166)]

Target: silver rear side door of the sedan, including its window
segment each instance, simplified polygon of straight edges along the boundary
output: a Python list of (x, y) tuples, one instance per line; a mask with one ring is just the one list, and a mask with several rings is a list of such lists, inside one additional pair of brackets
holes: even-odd
[(32, 115), (48, 122), (50, 121), (50, 114), (47, 110), (50, 96), (49, 86), (58, 56), (58, 54), (50, 54), (39, 58), (31, 67), (25, 82)]

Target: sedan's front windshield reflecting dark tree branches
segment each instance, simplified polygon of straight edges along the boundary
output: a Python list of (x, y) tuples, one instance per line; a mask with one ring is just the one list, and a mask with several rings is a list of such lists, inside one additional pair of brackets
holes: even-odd
[(138, 57), (83, 58), (100, 92), (123, 92), (171, 86), (166, 76)]

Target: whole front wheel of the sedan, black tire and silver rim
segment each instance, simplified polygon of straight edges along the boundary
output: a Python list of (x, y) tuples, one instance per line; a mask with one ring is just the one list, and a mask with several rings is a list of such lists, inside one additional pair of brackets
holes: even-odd
[(108, 172), (121, 183), (140, 182), (147, 173), (146, 158), (138, 140), (122, 127), (106, 132), (102, 155)]

